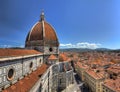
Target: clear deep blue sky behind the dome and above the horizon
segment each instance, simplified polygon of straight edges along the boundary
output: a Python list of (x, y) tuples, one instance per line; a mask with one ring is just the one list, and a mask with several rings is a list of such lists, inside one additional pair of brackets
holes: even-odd
[(0, 0), (0, 46), (23, 46), (42, 9), (61, 47), (120, 48), (120, 0)]

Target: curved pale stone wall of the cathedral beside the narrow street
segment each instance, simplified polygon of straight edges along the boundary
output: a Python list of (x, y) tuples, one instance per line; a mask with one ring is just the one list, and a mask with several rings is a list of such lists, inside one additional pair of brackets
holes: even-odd
[(62, 62), (57, 63), (49, 67), (46, 73), (41, 77), (41, 88), (38, 88), (40, 92), (61, 92), (70, 84), (73, 84), (73, 69), (61, 71), (65, 65)]

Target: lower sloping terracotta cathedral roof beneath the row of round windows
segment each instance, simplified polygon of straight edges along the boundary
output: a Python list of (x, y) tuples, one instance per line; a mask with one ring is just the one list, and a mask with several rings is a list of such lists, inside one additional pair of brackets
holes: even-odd
[(29, 90), (35, 85), (35, 83), (40, 79), (40, 76), (47, 70), (48, 66), (43, 64), (37, 70), (24, 77), (17, 83), (6, 88), (2, 92), (29, 92)]

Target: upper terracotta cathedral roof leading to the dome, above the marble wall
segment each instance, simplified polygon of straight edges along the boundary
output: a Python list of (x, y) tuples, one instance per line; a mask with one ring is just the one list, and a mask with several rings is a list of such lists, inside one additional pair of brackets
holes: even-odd
[(34, 55), (34, 54), (42, 54), (42, 53), (36, 50), (27, 50), (27, 49), (0, 49), (0, 58)]

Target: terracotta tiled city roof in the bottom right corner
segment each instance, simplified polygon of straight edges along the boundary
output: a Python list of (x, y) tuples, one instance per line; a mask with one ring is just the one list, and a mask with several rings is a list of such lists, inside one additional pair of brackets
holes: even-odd
[(116, 80), (107, 79), (103, 85), (107, 86), (109, 89), (114, 90), (114, 92), (120, 92), (120, 78)]

